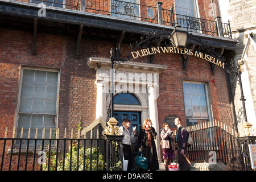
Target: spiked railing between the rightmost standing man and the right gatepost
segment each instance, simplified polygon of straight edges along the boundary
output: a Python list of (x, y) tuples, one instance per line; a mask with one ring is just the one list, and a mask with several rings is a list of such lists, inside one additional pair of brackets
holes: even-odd
[(228, 164), (233, 156), (241, 156), (238, 140), (219, 126), (205, 127), (190, 131), (194, 140), (188, 148), (188, 157), (195, 161), (216, 162)]

